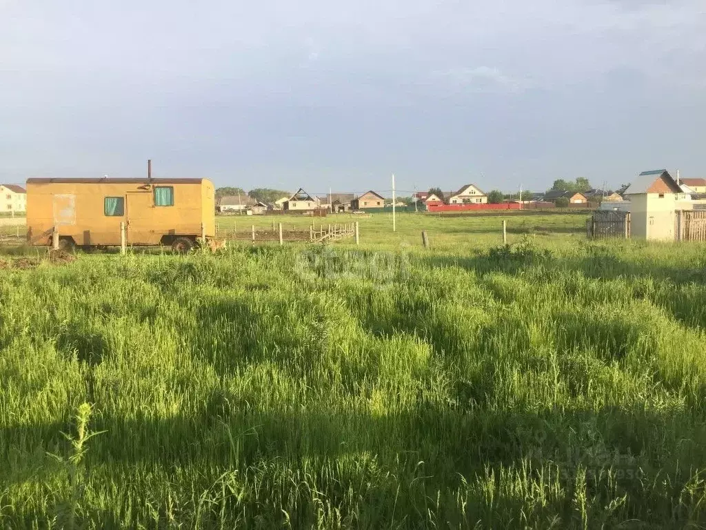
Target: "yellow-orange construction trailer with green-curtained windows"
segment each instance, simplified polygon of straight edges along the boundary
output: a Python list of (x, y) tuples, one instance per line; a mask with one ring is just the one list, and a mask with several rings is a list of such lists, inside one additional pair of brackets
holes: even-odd
[(189, 250), (215, 237), (215, 189), (208, 179), (28, 179), (31, 245), (171, 245)]

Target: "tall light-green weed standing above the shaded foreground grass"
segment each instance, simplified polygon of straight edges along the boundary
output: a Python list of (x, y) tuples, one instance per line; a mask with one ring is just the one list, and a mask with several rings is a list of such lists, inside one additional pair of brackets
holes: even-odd
[(83, 495), (83, 466), (81, 465), (83, 457), (86, 452), (88, 452), (88, 447), (86, 447), (86, 442), (92, 437), (97, 436), (105, 432), (97, 431), (90, 432), (88, 430), (88, 422), (92, 413), (92, 407), (88, 403), (83, 403), (76, 409), (76, 437), (66, 434), (66, 432), (61, 432), (66, 440), (71, 442), (71, 447), (73, 452), (68, 457), (62, 457), (58, 454), (49, 453), (49, 456), (56, 459), (62, 466), (66, 468), (68, 473), (68, 483), (69, 489), (71, 491), (71, 498), (68, 500), (68, 507), (66, 507), (66, 513), (64, 514), (64, 520), (66, 521), (66, 528), (75, 528), (76, 521), (76, 510), (78, 508), (78, 501), (81, 495)]

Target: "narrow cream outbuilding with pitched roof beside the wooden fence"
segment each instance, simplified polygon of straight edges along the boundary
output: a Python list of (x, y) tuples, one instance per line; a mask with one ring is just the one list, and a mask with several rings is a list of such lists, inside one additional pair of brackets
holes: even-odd
[(648, 240), (674, 240), (677, 196), (683, 192), (667, 170), (644, 171), (630, 182), (630, 232)]

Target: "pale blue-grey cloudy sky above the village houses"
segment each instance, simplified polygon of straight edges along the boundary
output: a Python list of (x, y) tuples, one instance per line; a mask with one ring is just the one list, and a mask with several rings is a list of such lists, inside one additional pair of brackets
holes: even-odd
[(0, 0), (0, 182), (706, 177), (703, 0)]

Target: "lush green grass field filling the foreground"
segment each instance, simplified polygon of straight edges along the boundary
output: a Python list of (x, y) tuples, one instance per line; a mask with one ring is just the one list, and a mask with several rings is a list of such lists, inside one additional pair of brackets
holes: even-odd
[(0, 271), (0, 524), (706, 525), (706, 249), (585, 218)]

